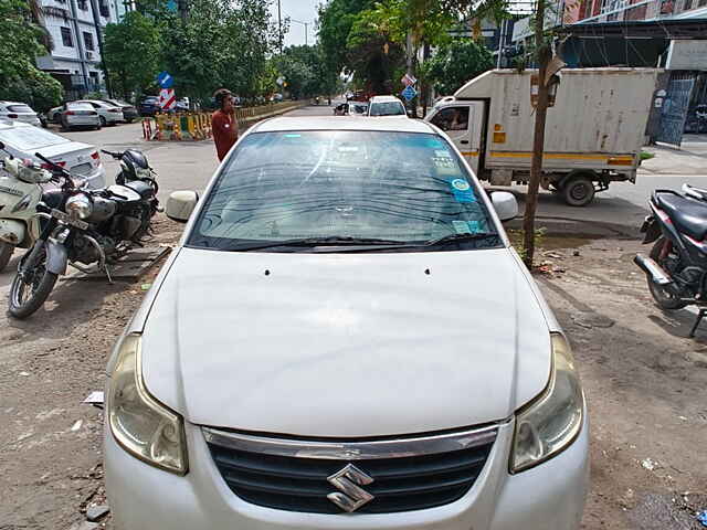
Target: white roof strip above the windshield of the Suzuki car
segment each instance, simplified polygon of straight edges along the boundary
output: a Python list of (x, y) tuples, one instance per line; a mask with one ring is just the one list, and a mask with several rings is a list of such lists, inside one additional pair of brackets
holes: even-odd
[(286, 130), (382, 130), (391, 132), (426, 132), (436, 135), (426, 121), (407, 116), (388, 119), (355, 118), (346, 116), (278, 117), (261, 121), (253, 132), (277, 132)]

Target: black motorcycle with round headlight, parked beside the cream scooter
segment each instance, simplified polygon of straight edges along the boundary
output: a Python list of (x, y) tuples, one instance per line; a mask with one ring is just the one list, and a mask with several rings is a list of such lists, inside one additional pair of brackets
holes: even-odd
[(35, 156), (52, 171), (59, 189), (45, 191), (36, 205), (42, 230), (20, 259), (10, 286), (9, 314), (18, 319), (35, 312), (66, 266), (86, 274), (105, 272), (150, 231), (155, 188), (130, 180), (99, 190), (76, 186), (61, 166)]

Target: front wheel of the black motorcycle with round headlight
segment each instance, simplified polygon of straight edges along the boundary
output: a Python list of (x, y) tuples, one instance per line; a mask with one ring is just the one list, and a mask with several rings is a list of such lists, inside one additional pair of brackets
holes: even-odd
[(57, 276), (46, 271), (46, 250), (43, 248), (34, 267), (14, 276), (10, 287), (10, 316), (23, 319), (44, 305), (54, 288)]

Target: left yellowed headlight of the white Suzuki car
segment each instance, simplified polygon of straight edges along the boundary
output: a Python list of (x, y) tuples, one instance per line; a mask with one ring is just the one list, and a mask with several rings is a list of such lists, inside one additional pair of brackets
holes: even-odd
[(188, 469), (184, 423), (152, 398), (143, 381), (140, 336), (118, 346), (108, 382), (108, 425), (125, 451), (152, 466), (184, 475)]

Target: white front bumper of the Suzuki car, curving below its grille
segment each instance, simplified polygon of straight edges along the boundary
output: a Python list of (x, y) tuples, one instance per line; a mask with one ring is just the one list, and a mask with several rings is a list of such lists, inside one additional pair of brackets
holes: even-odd
[(387, 515), (275, 510), (236, 497), (217, 469), (198, 426), (187, 425), (190, 470), (162, 471), (128, 455), (106, 427), (106, 489), (117, 530), (573, 530), (589, 487), (589, 428), (555, 458), (508, 473), (513, 422), (499, 430), (482, 475), (460, 500)]

